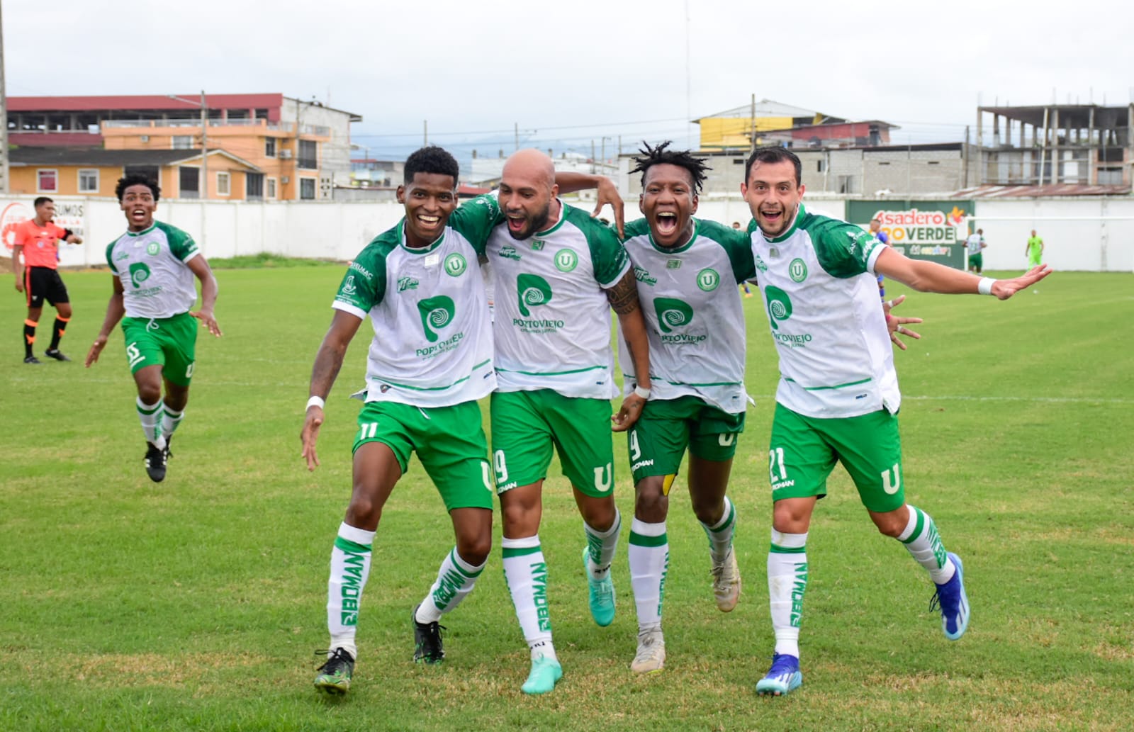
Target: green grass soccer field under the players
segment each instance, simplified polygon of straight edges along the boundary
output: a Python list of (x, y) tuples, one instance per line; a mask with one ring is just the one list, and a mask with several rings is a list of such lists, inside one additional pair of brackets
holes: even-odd
[[(22, 298), (9, 291), (0, 303), (0, 730), (1134, 727), (1129, 274), (1056, 273), (1007, 303), (914, 295), (903, 306), (926, 318), (923, 340), (897, 355), (905, 485), (965, 560), (973, 615), (962, 640), (942, 637), (923, 570), (878, 535), (836, 469), (807, 547), (804, 684), (780, 699), (754, 693), (772, 647), (764, 561), (777, 378), (754, 297), (744, 306), (756, 407), (730, 490), (744, 576), (736, 611), (716, 610), (704, 535), (675, 501), (667, 669), (634, 675), (627, 534), (613, 570), (618, 616), (598, 628), (581, 522), (553, 466), (541, 537), (564, 680), (544, 697), (519, 692), (527, 650), (499, 548), (445, 620), (445, 664), (417, 666), (409, 612), (452, 539), (415, 465), (374, 543), (361, 658), (340, 704), (313, 691), (312, 654), (327, 644), (328, 560), (358, 410), (346, 397), (362, 381), (369, 326), (328, 402), (323, 465), (310, 474), (298, 433), (341, 267), (217, 276), (225, 338), (197, 342), (162, 484), (142, 467), (120, 333), (96, 366), (81, 363), (110, 276), (65, 274), (71, 364), (23, 365)], [(45, 313), (41, 343), (50, 322)], [(620, 437), (616, 456), (628, 527)]]

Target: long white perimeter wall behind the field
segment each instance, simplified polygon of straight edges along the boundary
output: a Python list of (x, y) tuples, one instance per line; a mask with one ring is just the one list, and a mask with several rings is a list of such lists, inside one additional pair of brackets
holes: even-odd
[[(2, 198), (0, 208), (22, 203), (32, 213), (32, 198)], [(126, 229), (118, 202), (104, 198), (56, 197), (83, 205), (86, 244), (61, 247), (66, 266), (105, 264), (105, 247)], [(840, 198), (807, 195), (811, 211), (843, 216)], [(593, 203), (577, 202), (591, 210)], [(1032, 229), (1047, 246), (1044, 262), (1056, 270), (1134, 272), (1134, 197), (1075, 199), (978, 201), (974, 222), (984, 229), (989, 270), (1022, 270), (1024, 244)], [(403, 214), (397, 203), (201, 203), (161, 201), (156, 218), (192, 233), (211, 258), (261, 252), (291, 257), (350, 259)], [(609, 208), (603, 215), (610, 215)], [(637, 202), (628, 201), (627, 219), (637, 219)], [(725, 224), (747, 225), (747, 204), (739, 197), (701, 202), (697, 216)], [(64, 225), (73, 225), (64, 222)], [(5, 252), (5, 254), (7, 250)]]

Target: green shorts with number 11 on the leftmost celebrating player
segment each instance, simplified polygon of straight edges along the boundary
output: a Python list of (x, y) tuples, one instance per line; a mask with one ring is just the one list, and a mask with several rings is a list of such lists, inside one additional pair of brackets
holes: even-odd
[(409, 469), (409, 453), (416, 451), (447, 511), (492, 510), (489, 446), (475, 401), (451, 407), (369, 401), (358, 412), (354, 449), (367, 442), (390, 448), (403, 475)]

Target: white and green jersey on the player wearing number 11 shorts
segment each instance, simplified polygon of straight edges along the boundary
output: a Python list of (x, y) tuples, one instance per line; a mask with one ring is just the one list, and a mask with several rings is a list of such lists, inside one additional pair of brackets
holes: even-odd
[(460, 205), (437, 241), (406, 246), (405, 219), (364, 248), (332, 307), (370, 315), (366, 401), (447, 407), (496, 388), (492, 329), (476, 258), (500, 207), (490, 196)]

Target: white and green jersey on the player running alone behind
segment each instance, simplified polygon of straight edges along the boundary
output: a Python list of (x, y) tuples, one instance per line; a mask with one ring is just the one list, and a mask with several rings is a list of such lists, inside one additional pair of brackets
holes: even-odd
[(107, 264), (122, 283), (127, 317), (172, 317), (197, 301), (186, 262), (201, 254), (185, 231), (161, 221), (127, 231), (107, 247)]

